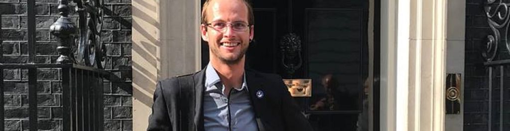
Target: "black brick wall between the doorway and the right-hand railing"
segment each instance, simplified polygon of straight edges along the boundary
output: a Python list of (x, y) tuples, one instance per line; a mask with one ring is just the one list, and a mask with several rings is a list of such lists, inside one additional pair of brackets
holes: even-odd
[[(489, 69), (483, 65), (481, 54), (487, 36), (493, 33), (483, 11), (485, 2), (466, 1), (464, 130), (467, 131), (489, 129)], [(499, 49), (504, 49), (502, 47)]]

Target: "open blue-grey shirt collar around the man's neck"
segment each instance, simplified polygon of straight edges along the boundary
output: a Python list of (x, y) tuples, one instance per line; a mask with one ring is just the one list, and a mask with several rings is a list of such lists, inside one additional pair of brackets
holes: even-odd
[[(215, 84), (217, 84), (219, 82), (221, 82), (220, 76), (218, 75), (218, 73), (216, 72), (214, 67), (211, 65), (211, 63), (207, 64), (207, 67), (206, 67), (206, 83), (205, 83), (206, 91), (212, 90), (214, 88), (223, 88), (223, 87), (215, 87), (214, 86)], [(242, 90), (246, 89), (246, 91), (248, 91), (248, 87), (247, 87), (247, 84), (246, 84), (246, 75), (245, 74), (243, 74), (243, 84), (241, 85), (241, 88), (240, 89), (234, 88), (234, 89), (238, 90), (238, 91), (242, 91)]]

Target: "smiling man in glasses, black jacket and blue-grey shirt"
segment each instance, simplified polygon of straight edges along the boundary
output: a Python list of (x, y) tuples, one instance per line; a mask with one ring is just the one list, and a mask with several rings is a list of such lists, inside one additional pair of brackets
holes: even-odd
[(147, 130), (312, 130), (280, 76), (245, 70), (253, 23), (245, 0), (203, 5), (210, 63), (158, 82)]

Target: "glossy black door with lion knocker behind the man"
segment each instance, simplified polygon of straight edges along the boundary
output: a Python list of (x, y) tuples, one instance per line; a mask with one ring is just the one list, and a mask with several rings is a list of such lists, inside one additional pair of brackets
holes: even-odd
[[(311, 78), (312, 97), (294, 98), (315, 130), (368, 130), (368, 117), (373, 115), (368, 107), (373, 104), (368, 103), (364, 83), (373, 82), (366, 80), (369, 51), (378, 53), (377, 47), (368, 46), (368, 0), (251, 3), (254, 42), (246, 66), (284, 78)], [(206, 66), (208, 47), (202, 45)]]

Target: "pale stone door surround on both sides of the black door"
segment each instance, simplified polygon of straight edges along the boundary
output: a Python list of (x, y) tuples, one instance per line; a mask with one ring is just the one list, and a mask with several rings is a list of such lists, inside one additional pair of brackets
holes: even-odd
[[(132, 3), (133, 129), (145, 130), (156, 81), (200, 69), (199, 33), (193, 27), (199, 25), (200, 1)], [(446, 3), (446, 0), (381, 1), (380, 130), (444, 130)], [(408, 13), (401, 16), (399, 12)], [(169, 19), (176, 17), (180, 20)], [(399, 21), (407, 24), (397, 24)], [(174, 48), (174, 44), (186, 51)], [(400, 54), (409, 57), (402, 59)], [(176, 63), (186, 66), (173, 66)], [(406, 68), (397, 72), (401, 63)], [(397, 77), (401, 73), (409, 77)]]

